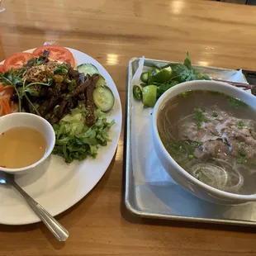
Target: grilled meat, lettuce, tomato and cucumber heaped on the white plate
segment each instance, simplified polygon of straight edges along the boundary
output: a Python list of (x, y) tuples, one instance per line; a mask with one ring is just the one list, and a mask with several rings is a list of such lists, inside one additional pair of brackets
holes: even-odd
[(98, 147), (110, 141), (114, 124), (104, 113), (115, 102), (105, 79), (92, 64), (73, 66), (72, 53), (56, 45), (12, 55), (0, 65), (0, 116), (26, 111), (50, 121), (54, 154), (67, 163), (95, 158)]

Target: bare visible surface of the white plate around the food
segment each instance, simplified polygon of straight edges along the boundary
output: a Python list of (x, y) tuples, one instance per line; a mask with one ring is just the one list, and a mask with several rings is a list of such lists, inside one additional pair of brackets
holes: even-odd
[[(48, 160), (31, 173), (17, 176), (17, 183), (44, 206), (52, 216), (66, 211), (92, 190), (106, 172), (111, 163), (118, 140), (121, 134), (121, 101), (116, 88), (107, 70), (97, 60), (78, 50), (69, 50), (73, 53), (77, 64), (91, 63), (97, 67), (106, 79), (107, 85), (115, 96), (115, 105), (107, 114), (109, 121), (115, 119), (111, 127), (111, 142), (106, 147), (98, 149), (96, 159), (88, 158), (83, 162), (73, 161), (66, 164), (64, 159), (51, 155)], [(27, 50), (32, 52), (32, 50)], [(7, 225), (23, 225), (40, 221), (36, 214), (26, 205), (26, 201), (12, 187), (0, 186), (0, 223)]]

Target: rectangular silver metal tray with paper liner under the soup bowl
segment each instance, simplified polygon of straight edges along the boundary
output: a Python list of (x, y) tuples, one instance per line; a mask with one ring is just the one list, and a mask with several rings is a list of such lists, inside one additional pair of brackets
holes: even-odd
[[(131, 80), (140, 59), (129, 62), (126, 126), (126, 207), (140, 217), (188, 220), (231, 225), (256, 225), (256, 202), (239, 206), (220, 206), (203, 201), (178, 186), (159, 163), (151, 130), (150, 108), (135, 102)], [(145, 59), (144, 70), (168, 61)], [(211, 77), (245, 82), (240, 71), (195, 66)]]

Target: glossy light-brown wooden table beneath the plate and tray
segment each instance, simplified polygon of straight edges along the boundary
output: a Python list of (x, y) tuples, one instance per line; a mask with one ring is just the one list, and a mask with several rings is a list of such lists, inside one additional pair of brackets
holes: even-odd
[[(126, 102), (128, 60), (256, 69), (256, 8), (192, 0), (3, 0), (0, 59), (45, 40), (81, 50), (111, 73)], [(61, 244), (42, 223), (0, 225), (0, 255), (255, 255), (254, 229), (140, 220), (123, 206), (123, 140), (104, 178), (58, 216)], [(0, 202), (1, 203), (1, 202)]]

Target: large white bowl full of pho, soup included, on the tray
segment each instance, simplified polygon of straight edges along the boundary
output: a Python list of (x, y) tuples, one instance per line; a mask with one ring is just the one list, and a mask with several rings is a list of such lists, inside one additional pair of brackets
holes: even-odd
[(256, 201), (256, 98), (226, 83), (165, 92), (152, 115), (154, 149), (175, 182), (217, 204)]

